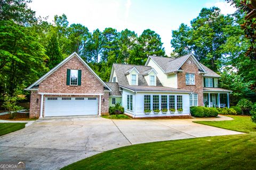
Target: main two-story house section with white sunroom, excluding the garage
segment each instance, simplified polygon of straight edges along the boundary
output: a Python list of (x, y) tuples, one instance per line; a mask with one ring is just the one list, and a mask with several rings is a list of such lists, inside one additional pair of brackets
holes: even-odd
[(219, 77), (193, 54), (150, 56), (145, 66), (113, 64), (108, 86), (116, 86), (122, 95), (110, 94), (109, 102), (122, 101), (125, 114), (132, 117), (188, 116), (190, 106), (229, 107), (231, 91), (218, 88)]

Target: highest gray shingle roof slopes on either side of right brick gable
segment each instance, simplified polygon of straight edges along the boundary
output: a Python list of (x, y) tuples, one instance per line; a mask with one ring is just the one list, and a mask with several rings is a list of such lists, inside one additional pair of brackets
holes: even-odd
[[(169, 57), (157, 57), (157, 56), (150, 56), (158, 65), (163, 69), (165, 73), (170, 73), (174, 71), (178, 71), (179, 67), (181, 66), (182, 63), (184, 63), (187, 58), (190, 56), (190, 54), (181, 56), (179, 58), (169, 58)], [(217, 77), (219, 78), (220, 75), (203, 65), (202, 63), (201, 66), (203, 69), (206, 71), (206, 74), (204, 74), (205, 77)]]

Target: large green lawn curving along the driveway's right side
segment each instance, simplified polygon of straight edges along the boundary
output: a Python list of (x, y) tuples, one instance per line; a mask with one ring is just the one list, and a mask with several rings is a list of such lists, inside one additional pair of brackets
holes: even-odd
[(255, 169), (256, 124), (250, 122), (249, 116), (231, 117), (235, 120), (203, 123), (246, 134), (132, 145), (102, 152), (62, 169)]

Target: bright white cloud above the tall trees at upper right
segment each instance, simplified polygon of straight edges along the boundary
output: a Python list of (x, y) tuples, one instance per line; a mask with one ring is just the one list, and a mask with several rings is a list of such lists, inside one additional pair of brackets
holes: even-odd
[(212, 3), (206, 3), (205, 5), (206, 7), (212, 7), (212, 6), (219, 7), (221, 10), (221, 13), (224, 15), (233, 14), (237, 10), (235, 6), (223, 0), (217, 0)]

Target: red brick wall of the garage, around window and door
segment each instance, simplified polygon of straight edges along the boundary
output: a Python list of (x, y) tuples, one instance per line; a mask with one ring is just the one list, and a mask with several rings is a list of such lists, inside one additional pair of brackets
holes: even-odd
[[(81, 86), (67, 86), (67, 69), (82, 70)], [(58, 70), (39, 84), (38, 92), (58, 93), (58, 94), (104, 94), (103, 84), (91, 73), (89, 69), (77, 58), (72, 57), (67, 63), (63, 64)], [(103, 97), (104, 96), (104, 97)], [(105, 102), (101, 103), (101, 114), (108, 114), (109, 92), (106, 92), (102, 98)], [(47, 96), (44, 96), (44, 98)], [(49, 96), (48, 96), (49, 97)], [(59, 96), (57, 96), (59, 97)], [(76, 97), (76, 96), (70, 96)], [(79, 96), (89, 97), (89, 96)], [(95, 96), (99, 97), (99, 96)], [(36, 99), (38, 98), (38, 103)], [(103, 99), (102, 99), (103, 100)], [(44, 99), (45, 101), (45, 99)], [(41, 95), (37, 92), (31, 92), (30, 114), (29, 117), (40, 116)], [(44, 105), (43, 105), (44, 106)], [(44, 115), (44, 107), (43, 107)]]

